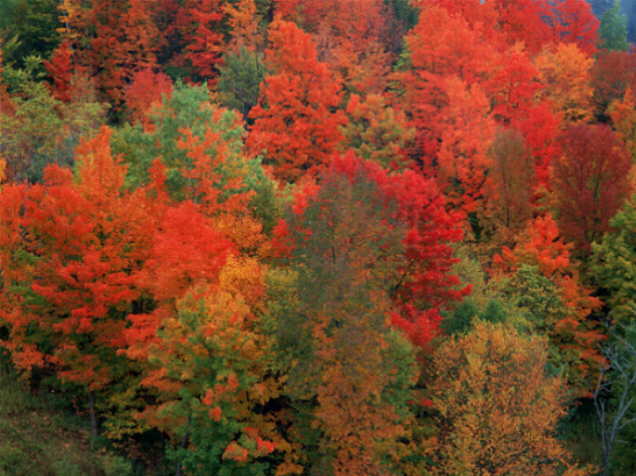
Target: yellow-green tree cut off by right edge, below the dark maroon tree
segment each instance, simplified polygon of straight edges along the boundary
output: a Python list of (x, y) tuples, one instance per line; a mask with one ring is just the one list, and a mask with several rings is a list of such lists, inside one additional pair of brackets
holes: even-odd
[(592, 245), (590, 272), (606, 296), (609, 317), (627, 324), (636, 317), (636, 196), (611, 220), (611, 231)]

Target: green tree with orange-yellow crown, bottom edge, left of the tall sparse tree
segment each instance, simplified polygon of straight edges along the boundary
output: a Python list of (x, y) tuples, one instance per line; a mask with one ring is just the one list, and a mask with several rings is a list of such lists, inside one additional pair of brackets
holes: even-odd
[[(176, 433), (168, 457), (193, 476), (268, 474), (273, 448), (264, 451), (263, 442), (271, 435), (260, 424), (266, 412), (256, 410), (269, 400), (268, 340), (238, 295), (187, 296), (177, 307), (151, 357), (165, 369), (163, 380), (180, 386), (158, 412)], [(251, 394), (255, 388), (260, 398)]]

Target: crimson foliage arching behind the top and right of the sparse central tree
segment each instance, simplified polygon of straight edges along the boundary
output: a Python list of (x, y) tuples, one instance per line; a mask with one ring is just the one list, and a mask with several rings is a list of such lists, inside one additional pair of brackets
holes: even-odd
[[(396, 207), (393, 219), (406, 231), (403, 264), (390, 279), (397, 279), (399, 283), (391, 291), (399, 309), (392, 315), (392, 321), (415, 344), (425, 345), (436, 333), (439, 308), (470, 292), (469, 287), (462, 287), (459, 279), (451, 274), (456, 262), (451, 243), (463, 236), (458, 215), (446, 211), (444, 197), (433, 180), (410, 170), (389, 175), (377, 164), (361, 160), (352, 152), (334, 157), (325, 171), (327, 175), (345, 176), (350, 181), (366, 176), (376, 184), (387, 206)], [(295, 197), (296, 215), (305, 213), (307, 205), (319, 196), (319, 189), (320, 185), (311, 185)], [(277, 231), (280, 250), (289, 252), (293, 245), (287, 225), (279, 224)], [(311, 228), (298, 231), (311, 233)]]

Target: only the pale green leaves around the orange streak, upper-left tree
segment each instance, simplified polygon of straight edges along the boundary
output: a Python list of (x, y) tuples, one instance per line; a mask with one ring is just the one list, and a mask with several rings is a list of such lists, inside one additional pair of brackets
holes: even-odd
[(113, 153), (122, 154), (128, 165), (126, 181), (129, 188), (146, 185), (153, 161), (160, 158), (166, 166), (168, 191), (177, 200), (186, 198), (184, 190), (192, 185), (186, 174), (194, 164), (188, 151), (180, 146), (180, 141), (185, 139), (184, 131), (187, 129), (193, 137), (202, 140), (207, 134), (215, 134), (218, 139), (205, 153), (210, 156), (224, 154), (220, 170), (216, 172), (224, 180), (230, 180), (237, 178), (238, 171), (245, 187), (236, 193), (254, 191), (250, 202), (252, 211), (266, 230), (272, 228), (279, 216), (274, 182), (265, 175), (260, 159), (245, 157), (245, 131), (237, 114), (212, 104), (206, 85), (177, 83), (172, 95), (164, 97), (162, 105), (151, 114), (151, 123), (149, 129), (139, 124), (126, 124), (113, 134)]

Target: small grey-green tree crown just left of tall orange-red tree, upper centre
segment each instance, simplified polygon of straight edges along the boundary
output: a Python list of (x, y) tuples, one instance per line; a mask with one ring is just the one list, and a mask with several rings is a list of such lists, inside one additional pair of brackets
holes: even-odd
[(228, 52), (217, 82), (221, 104), (247, 118), (250, 109), (258, 102), (264, 76), (265, 66), (260, 53), (244, 47)]

